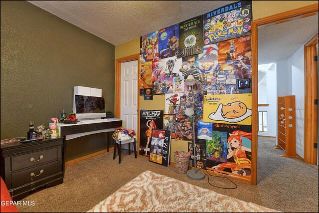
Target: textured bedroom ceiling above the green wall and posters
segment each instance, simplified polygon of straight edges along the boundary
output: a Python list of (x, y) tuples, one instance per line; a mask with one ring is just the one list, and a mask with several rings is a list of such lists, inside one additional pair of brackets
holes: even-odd
[(210, 12), (235, 0), (28, 0), (28, 2), (118, 45)]

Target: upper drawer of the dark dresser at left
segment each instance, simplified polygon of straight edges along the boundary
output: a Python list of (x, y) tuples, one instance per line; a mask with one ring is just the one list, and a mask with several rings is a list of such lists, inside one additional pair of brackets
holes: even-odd
[[(61, 146), (59, 146), (61, 149)], [(35, 166), (58, 159), (58, 147), (11, 157), (11, 171)]]

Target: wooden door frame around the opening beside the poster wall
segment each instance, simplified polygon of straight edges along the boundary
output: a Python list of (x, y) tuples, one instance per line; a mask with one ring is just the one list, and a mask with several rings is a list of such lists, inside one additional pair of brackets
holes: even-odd
[[(252, 20), (252, 174), (251, 174), (251, 184), (257, 185), (257, 148), (258, 148), (258, 27), (269, 26), (273, 24), (283, 23), (290, 20), (308, 17), (312, 15), (318, 15), (318, 3), (309, 6), (304, 6), (298, 9), (293, 9), (290, 11), (278, 13), (275, 15), (267, 16), (264, 18), (259, 18), (257, 20)], [(305, 73), (305, 80), (307, 75)], [(305, 87), (308, 88), (308, 84)], [(307, 90), (307, 89), (306, 89)], [(305, 90), (305, 91), (306, 91)], [(306, 100), (305, 100), (306, 104)], [(305, 119), (311, 117), (311, 112), (305, 110)], [(306, 127), (305, 127), (306, 130)], [(306, 141), (305, 141), (306, 145)], [(306, 153), (305, 153), (306, 154)]]

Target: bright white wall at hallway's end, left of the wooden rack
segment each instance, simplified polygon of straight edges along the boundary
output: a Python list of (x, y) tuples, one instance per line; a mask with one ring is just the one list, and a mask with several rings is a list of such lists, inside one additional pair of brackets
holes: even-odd
[[(265, 100), (267, 102), (258, 102), (259, 104), (269, 104), (267, 107), (258, 107), (258, 111), (267, 111), (267, 132), (258, 132), (260, 136), (277, 136), (277, 73), (276, 73), (276, 64), (264, 66), (258, 65), (259, 70), (264, 70), (266, 72), (266, 97), (261, 100)], [(259, 88), (263, 87), (262, 85), (258, 85)], [(258, 97), (262, 95), (258, 91)], [(260, 100), (260, 99), (259, 99)], [(258, 100), (258, 101), (259, 101)]]

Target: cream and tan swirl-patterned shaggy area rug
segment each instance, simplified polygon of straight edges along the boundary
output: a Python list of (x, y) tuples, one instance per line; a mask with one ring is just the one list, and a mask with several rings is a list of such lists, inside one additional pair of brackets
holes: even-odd
[(88, 212), (278, 212), (146, 171)]

